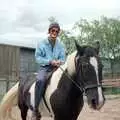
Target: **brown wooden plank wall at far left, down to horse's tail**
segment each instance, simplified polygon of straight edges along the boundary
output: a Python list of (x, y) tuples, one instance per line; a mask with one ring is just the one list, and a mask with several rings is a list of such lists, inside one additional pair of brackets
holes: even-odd
[(19, 47), (0, 45), (0, 97), (19, 80), (19, 63)]

